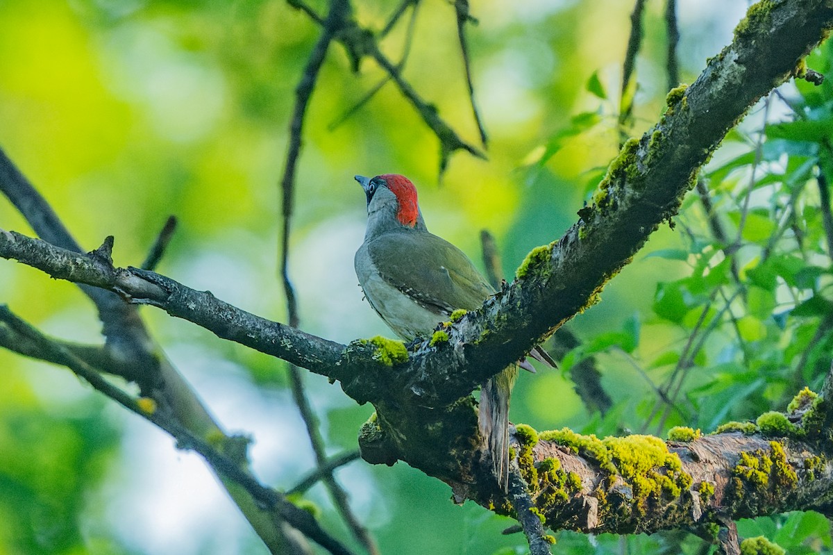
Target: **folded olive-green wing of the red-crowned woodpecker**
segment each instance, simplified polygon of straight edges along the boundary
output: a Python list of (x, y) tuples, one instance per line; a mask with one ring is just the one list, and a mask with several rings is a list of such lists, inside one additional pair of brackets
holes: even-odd
[(382, 278), (426, 308), (479, 308), (494, 289), (468, 257), (431, 233), (384, 233), (367, 243)]

